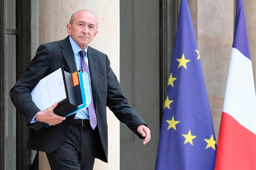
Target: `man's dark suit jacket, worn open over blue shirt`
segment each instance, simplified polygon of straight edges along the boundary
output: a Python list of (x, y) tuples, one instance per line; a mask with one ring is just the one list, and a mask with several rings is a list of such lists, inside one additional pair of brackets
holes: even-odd
[[(125, 123), (136, 135), (143, 138), (137, 128), (145, 122), (124, 98), (116, 75), (110, 67), (106, 54), (88, 47), (89, 70), (92, 84), (92, 96), (97, 115), (96, 131), (99, 132), (99, 146), (96, 158), (104, 162), (108, 160), (108, 125), (106, 106), (121, 122)], [(61, 41), (42, 44), (36, 51), (27, 69), (10, 91), (12, 103), (24, 118), (29, 122), (39, 112), (39, 108), (32, 101), (30, 92), (40, 81), (60, 66), (64, 65), (71, 72), (75, 72), (76, 63), (69, 37)], [(43, 152), (55, 151), (64, 141), (72, 125), (74, 115), (65, 121), (49, 128), (38, 131), (30, 128), (28, 136), (28, 149)]]

